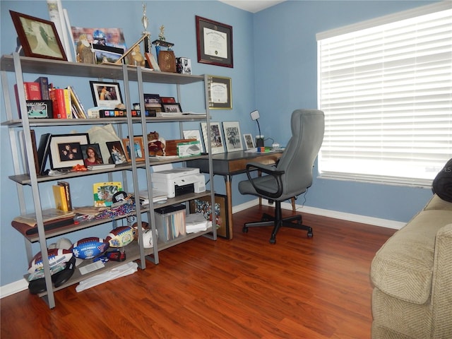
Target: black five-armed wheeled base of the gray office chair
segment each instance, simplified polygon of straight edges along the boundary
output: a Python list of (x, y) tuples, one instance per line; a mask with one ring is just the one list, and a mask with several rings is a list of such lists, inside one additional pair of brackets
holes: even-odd
[(261, 221), (256, 222), (245, 222), (244, 227), (242, 228), (242, 232), (247, 233), (248, 227), (268, 227), (273, 226), (273, 232), (270, 236), (270, 244), (276, 243), (276, 234), (280, 230), (281, 227), (290, 227), (295, 228), (297, 230), (306, 230), (307, 237), (314, 237), (314, 233), (312, 232), (312, 227), (302, 225), (302, 216), (301, 215), (291, 215), (287, 218), (282, 218), (281, 212), (281, 202), (275, 201), (275, 216), (264, 213), (262, 215)]

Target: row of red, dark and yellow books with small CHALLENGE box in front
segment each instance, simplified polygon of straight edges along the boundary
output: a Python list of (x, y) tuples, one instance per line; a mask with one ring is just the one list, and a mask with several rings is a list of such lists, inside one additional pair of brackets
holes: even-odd
[[(17, 85), (14, 89), (21, 117)], [(88, 114), (72, 86), (54, 88), (46, 76), (40, 76), (35, 81), (25, 81), (23, 90), (30, 118), (88, 119)]]

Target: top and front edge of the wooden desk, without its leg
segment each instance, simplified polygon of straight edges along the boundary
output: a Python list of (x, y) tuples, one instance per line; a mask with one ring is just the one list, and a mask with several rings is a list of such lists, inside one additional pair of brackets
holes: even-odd
[[(274, 164), (283, 154), (283, 150), (275, 150), (267, 153), (254, 153), (238, 150), (235, 152), (212, 155), (213, 174), (234, 175), (244, 173), (248, 162), (260, 162), (261, 164)], [(198, 167), (203, 173), (209, 172), (208, 159), (189, 160), (188, 167)]]

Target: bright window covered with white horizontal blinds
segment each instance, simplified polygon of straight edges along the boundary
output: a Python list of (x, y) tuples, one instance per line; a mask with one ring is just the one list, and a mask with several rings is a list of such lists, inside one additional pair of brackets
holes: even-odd
[(317, 40), (321, 177), (431, 185), (452, 157), (452, 3)]

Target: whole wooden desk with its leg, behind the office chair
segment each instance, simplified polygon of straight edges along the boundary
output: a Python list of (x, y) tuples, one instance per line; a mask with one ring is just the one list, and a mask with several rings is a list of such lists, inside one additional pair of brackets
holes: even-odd
[[(282, 150), (271, 153), (247, 153), (236, 151), (212, 155), (213, 174), (222, 175), (225, 178), (227, 196), (227, 220), (229, 221), (229, 234), (232, 239), (232, 176), (246, 172), (248, 162), (259, 162), (265, 165), (274, 164), (283, 154)], [(196, 159), (187, 161), (187, 167), (198, 167), (203, 173), (209, 172), (208, 159)]]

